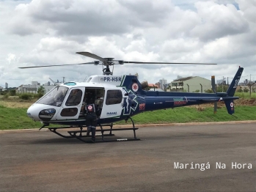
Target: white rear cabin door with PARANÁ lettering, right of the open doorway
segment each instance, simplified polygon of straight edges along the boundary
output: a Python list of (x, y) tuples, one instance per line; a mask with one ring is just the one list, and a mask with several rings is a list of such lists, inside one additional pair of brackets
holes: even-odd
[(122, 113), (122, 91), (120, 89), (107, 90), (105, 98), (100, 119), (120, 117)]

